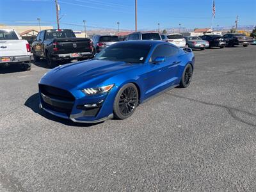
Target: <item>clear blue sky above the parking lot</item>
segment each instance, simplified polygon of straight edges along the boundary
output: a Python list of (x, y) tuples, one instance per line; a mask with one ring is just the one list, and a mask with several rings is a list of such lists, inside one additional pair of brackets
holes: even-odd
[[(61, 6), (61, 28), (134, 29), (134, 0), (58, 0)], [(256, 0), (215, 0), (213, 26), (256, 24)], [(138, 0), (138, 29), (211, 27), (212, 0)], [(0, 23), (37, 24), (56, 22), (54, 0), (0, 0)], [(48, 22), (48, 23), (46, 23)], [(52, 23), (54, 27), (56, 24)]]

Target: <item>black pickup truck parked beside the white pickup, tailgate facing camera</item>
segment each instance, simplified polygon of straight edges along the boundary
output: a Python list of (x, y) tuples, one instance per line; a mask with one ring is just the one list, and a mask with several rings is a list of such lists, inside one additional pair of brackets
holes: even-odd
[(32, 44), (34, 60), (47, 60), (47, 67), (55, 67), (58, 61), (93, 58), (89, 38), (76, 38), (70, 29), (40, 31)]

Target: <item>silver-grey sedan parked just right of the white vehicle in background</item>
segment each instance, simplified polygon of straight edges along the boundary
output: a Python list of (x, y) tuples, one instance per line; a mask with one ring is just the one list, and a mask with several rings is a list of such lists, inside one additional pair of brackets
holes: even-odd
[(201, 49), (209, 47), (209, 42), (202, 40), (199, 36), (185, 36), (186, 44), (191, 49)]

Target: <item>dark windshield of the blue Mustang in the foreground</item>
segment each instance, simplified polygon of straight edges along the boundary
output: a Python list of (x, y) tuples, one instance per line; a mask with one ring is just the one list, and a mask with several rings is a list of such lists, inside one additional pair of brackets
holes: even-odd
[(125, 61), (127, 63), (144, 63), (150, 45), (114, 44), (95, 56), (96, 60)]

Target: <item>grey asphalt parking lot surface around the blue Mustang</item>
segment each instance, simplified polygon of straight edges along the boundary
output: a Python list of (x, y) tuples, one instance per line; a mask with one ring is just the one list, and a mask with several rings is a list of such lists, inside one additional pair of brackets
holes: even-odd
[(256, 191), (256, 46), (195, 51), (191, 86), (131, 118), (38, 109), (44, 61), (0, 70), (0, 191)]

